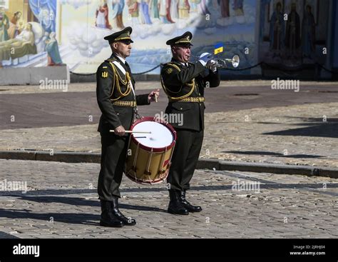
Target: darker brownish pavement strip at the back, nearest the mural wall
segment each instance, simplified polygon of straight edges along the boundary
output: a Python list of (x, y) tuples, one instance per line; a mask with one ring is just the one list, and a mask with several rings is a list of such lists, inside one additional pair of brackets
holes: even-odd
[[(252, 86), (247, 86), (250, 83)], [(334, 94), (337, 93), (338, 84), (334, 82), (301, 82), (299, 92), (271, 89), (269, 81), (262, 81), (262, 85), (257, 86), (259, 83), (260, 81), (222, 81), (219, 87), (205, 91), (205, 112), (337, 102)], [(160, 83), (141, 82), (138, 87), (140, 88), (136, 89), (136, 94), (148, 94), (151, 89), (160, 88)], [(148, 90), (144, 90), (145, 88)], [(31, 93), (25, 93), (26, 89)], [(31, 89), (26, 86), (0, 88), (0, 129), (98, 123), (101, 112), (96, 101), (95, 84), (70, 84), (68, 92), (45, 91), (37, 86)], [(14, 94), (6, 94), (8, 91)], [(143, 116), (154, 116), (165, 111), (167, 105), (168, 99), (160, 91), (158, 103), (139, 106), (139, 111)]]

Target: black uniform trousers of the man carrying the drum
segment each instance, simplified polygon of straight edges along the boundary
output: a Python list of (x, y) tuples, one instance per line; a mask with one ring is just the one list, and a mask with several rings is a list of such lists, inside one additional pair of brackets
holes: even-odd
[(113, 196), (121, 197), (120, 184), (126, 165), (128, 136), (101, 133), (101, 145), (98, 196), (101, 200), (113, 201)]

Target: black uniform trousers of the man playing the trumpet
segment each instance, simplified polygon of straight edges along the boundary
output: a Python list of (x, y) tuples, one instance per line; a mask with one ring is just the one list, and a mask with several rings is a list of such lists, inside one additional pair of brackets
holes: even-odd
[(187, 129), (175, 129), (177, 140), (171, 159), (167, 183), (170, 188), (183, 191), (190, 188), (190, 180), (198, 163), (200, 149), (203, 143), (203, 130), (193, 131)]

